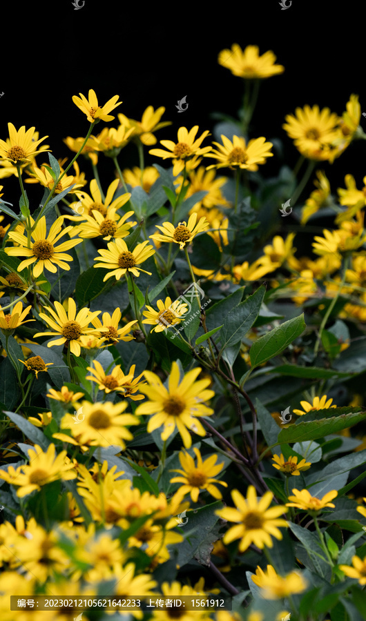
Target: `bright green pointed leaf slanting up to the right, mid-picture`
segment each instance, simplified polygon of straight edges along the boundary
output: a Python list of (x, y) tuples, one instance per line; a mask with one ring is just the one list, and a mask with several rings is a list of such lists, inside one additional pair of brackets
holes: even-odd
[(284, 322), (277, 328), (273, 328), (268, 334), (260, 337), (253, 343), (250, 349), (251, 367), (259, 366), (267, 360), (280, 354), (305, 330), (304, 314), (298, 315), (288, 322)]

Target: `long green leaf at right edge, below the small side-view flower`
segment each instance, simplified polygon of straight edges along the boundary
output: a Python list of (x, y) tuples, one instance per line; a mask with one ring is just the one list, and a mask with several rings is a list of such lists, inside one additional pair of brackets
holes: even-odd
[[(337, 413), (337, 409), (332, 408), (333, 414)], [(320, 420), (312, 420), (310, 422), (300, 422), (296, 425), (291, 425), (286, 429), (282, 429), (278, 435), (278, 444), (285, 444), (286, 442), (305, 442), (305, 440), (317, 440), (318, 437), (325, 437), (330, 433), (336, 433), (356, 425), (358, 422), (365, 420), (366, 412), (359, 412), (357, 408), (351, 408), (356, 410), (356, 413), (341, 414), (340, 416), (332, 416), (330, 418), (322, 418)]]

